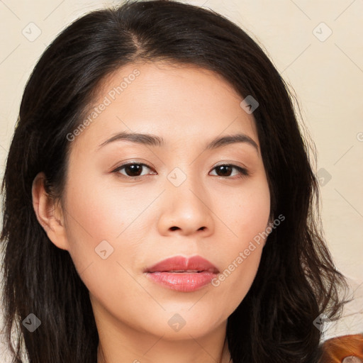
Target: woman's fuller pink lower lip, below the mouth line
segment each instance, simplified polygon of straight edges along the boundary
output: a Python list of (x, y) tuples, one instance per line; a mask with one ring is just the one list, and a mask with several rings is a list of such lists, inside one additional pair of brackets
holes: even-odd
[(208, 285), (217, 276), (213, 272), (147, 272), (152, 281), (169, 289), (191, 292)]

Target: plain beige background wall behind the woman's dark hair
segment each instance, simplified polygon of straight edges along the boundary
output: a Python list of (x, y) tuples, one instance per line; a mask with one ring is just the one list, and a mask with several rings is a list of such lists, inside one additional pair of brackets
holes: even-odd
[[(318, 150), (325, 235), (354, 294), (325, 337), (363, 333), (363, 1), (184, 2), (223, 13), (247, 30), (294, 88)], [(120, 3), (0, 0), (1, 178), (23, 88), (45, 47), (86, 11)]]

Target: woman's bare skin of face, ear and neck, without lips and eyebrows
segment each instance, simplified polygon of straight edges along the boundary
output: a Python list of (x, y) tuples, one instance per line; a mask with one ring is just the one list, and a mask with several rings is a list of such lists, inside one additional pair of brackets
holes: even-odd
[[(118, 69), (104, 79), (94, 106), (134, 69), (140, 75), (72, 141), (62, 205), (45, 194), (44, 174), (35, 178), (35, 213), (89, 289), (99, 363), (225, 363), (227, 319), (250, 289), (265, 240), (217, 287), (173, 291), (147, 279), (144, 269), (175, 255), (201, 255), (223, 272), (267, 228), (269, 187), (255, 121), (220, 75), (166, 62)], [(165, 145), (118, 140), (99, 148), (121, 131), (152, 133)], [(249, 143), (206, 150), (213, 138), (236, 133), (258, 150)], [(143, 167), (139, 179), (113, 172), (125, 162), (150, 169)], [(223, 174), (216, 168), (223, 162), (250, 174)], [(176, 167), (186, 176), (179, 186), (167, 179)], [(95, 252), (103, 240), (113, 247), (106, 259)], [(175, 314), (185, 321), (179, 331), (168, 324)]]

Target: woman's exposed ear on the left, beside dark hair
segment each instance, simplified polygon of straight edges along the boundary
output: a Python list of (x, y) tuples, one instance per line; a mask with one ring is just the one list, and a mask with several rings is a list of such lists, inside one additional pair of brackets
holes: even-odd
[(33, 180), (32, 196), (35, 215), (45, 233), (47, 233), (48, 238), (60, 249), (68, 250), (62, 208), (56, 206), (55, 201), (45, 191), (45, 180), (46, 177), (43, 172), (37, 174)]

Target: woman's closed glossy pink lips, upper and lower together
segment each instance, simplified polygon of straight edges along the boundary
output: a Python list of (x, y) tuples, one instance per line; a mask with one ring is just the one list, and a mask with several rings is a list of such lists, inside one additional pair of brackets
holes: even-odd
[[(188, 272), (193, 270), (193, 272)], [(164, 259), (145, 270), (147, 277), (172, 290), (191, 292), (201, 289), (219, 273), (207, 259), (183, 256)]]

